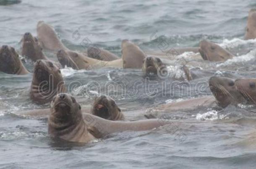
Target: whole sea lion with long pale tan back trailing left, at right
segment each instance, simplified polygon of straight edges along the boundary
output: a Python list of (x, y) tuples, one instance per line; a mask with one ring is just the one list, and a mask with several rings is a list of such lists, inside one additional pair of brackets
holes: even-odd
[(235, 80), (232, 78), (213, 76), (209, 79), (209, 87), (214, 96), (204, 96), (199, 98), (191, 98), (179, 102), (162, 104), (160, 106), (150, 108), (148, 111), (149, 113), (152, 113), (154, 111), (188, 111), (194, 110), (199, 107), (214, 108), (217, 106), (225, 108), (229, 104), (236, 105), (238, 103), (244, 103), (246, 101), (235, 87)]

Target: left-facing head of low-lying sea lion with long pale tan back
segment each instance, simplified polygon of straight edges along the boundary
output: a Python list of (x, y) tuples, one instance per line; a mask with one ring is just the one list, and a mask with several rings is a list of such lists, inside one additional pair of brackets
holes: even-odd
[(60, 62), (61, 66), (64, 68), (65, 66), (71, 67), (73, 69), (78, 70), (78, 66), (76, 65), (76, 63), (70, 58), (70, 56), (68, 55), (68, 53), (63, 50), (60, 49), (57, 52), (57, 58), (58, 61)]

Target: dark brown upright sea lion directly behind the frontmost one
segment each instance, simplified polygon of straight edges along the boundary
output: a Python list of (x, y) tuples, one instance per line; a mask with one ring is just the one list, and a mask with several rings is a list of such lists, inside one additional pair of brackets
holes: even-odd
[(37, 103), (48, 103), (57, 93), (66, 92), (60, 69), (51, 61), (37, 60), (31, 83), (30, 98)]

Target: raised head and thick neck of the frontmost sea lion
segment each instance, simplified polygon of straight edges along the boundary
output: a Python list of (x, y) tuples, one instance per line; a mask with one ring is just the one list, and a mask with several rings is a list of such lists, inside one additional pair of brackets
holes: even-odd
[(59, 93), (52, 98), (51, 114), (48, 120), (48, 134), (53, 138), (65, 141), (87, 143), (95, 137), (81, 113), (81, 106), (76, 99), (67, 93)]

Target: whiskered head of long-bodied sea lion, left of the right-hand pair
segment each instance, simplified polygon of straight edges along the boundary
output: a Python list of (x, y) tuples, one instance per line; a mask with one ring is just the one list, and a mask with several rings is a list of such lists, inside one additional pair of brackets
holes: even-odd
[(213, 76), (209, 79), (209, 87), (217, 100), (217, 104), (223, 108), (229, 104), (246, 101), (237, 90), (232, 78)]

